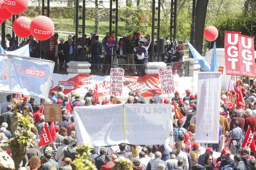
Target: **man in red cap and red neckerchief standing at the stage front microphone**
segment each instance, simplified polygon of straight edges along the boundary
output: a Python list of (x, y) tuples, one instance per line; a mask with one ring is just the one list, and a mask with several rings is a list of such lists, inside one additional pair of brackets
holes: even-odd
[[(115, 41), (115, 35), (111, 34), (110, 38), (104, 41), (104, 44), (103, 44), (103, 52), (105, 54), (104, 64), (108, 64), (108, 65), (112, 64), (115, 57), (115, 51), (117, 49), (118, 49), (118, 45), (116, 44), (116, 41)], [(110, 68), (111, 68), (110, 66), (109, 67), (104, 66), (102, 76), (107, 75), (108, 72), (110, 72)]]

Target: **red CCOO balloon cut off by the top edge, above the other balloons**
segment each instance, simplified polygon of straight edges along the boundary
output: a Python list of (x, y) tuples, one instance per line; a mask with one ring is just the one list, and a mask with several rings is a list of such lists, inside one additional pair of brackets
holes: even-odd
[(26, 11), (28, 7), (28, 0), (4, 0), (6, 9), (17, 15)]

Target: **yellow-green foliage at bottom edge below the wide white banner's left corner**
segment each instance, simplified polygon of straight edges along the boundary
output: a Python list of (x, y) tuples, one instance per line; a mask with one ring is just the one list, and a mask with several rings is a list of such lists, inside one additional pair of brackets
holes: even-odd
[(77, 145), (75, 148), (78, 155), (76, 155), (76, 159), (72, 162), (72, 167), (75, 170), (94, 170), (96, 166), (88, 159), (92, 147), (88, 145)]

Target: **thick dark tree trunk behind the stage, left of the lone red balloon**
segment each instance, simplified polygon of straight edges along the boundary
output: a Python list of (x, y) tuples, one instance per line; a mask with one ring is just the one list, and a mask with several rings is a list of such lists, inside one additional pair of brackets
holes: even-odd
[(196, 1), (195, 48), (200, 54), (202, 54), (203, 49), (204, 25), (208, 1)]

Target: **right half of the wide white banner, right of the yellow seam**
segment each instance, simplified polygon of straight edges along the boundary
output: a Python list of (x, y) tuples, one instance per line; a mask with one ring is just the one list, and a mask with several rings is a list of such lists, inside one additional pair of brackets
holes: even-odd
[(163, 144), (173, 131), (169, 104), (124, 104), (124, 112), (129, 144)]

